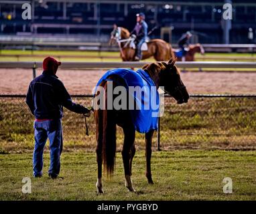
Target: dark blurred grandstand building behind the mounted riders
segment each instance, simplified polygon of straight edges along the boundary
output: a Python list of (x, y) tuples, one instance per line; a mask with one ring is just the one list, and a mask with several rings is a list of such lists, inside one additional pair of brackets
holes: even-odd
[[(21, 5), (30, 3), (32, 19), (21, 18)], [(119, 1), (119, 0), (0, 0), (0, 34), (34, 37), (81, 37), (84, 41), (107, 42), (113, 24), (133, 29), (135, 14), (146, 15), (150, 37), (157, 38), (161, 29), (172, 29), (172, 43), (182, 33), (194, 32), (194, 41), (225, 43), (222, 27), (222, 1)], [(232, 1), (233, 20), (229, 43), (248, 43), (248, 29), (256, 29), (255, 0)], [(170, 40), (169, 36), (164, 39)], [(226, 42), (227, 43), (227, 42)]]

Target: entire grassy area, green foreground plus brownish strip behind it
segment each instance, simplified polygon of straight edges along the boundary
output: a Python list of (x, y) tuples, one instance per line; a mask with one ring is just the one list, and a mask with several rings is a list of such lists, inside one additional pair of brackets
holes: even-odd
[[(34, 179), (33, 118), (23, 99), (13, 101), (0, 102), (0, 200), (256, 200), (255, 99), (196, 99), (182, 106), (170, 104), (161, 118), (163, 151), (155, 151), (153, 139), (153, 186), (147, 185), (144, 176), (144, 136), (137, 134), (133, 162), (137, 193), (124, 187), (119, 130), (116, 172), (111, 180), (104, 177), (104, 195), (97, 195), (95, 188), (92, 117), (88, 120), (90, 136), (85, 136), (83, 118), (65, 112), (60, 173), (64, 180), (47, 177), (48, 145), (44, 177)], [(23, 177), (31, 177), (31, 194), (21, 193)], [(225, 177), (233, 179), (233, 194), (222, 192)]]

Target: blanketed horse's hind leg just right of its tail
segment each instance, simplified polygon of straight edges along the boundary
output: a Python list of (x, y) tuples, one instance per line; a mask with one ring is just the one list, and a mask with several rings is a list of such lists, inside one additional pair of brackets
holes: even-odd
[[(132, 148), (135, 140), (135, 130), (131, 126), (123, 128), (125, 134), (125, 140), (123, 143), (123, 167), (125, 169), (125, 187), (131, 192), (135, 192), (133, 188), (133, 182), (131, 181), (131, 160), (132, 160)], [(135, 151), (133, 150), (133, 156)]]

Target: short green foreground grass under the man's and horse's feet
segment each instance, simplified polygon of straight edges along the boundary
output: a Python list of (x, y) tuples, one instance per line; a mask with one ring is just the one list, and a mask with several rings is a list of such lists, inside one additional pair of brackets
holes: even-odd
[[(147, 185), (142, 151), (133, 160), (133, 184), (124, 187), (121, 153), (113, 179), (103, 179), (105, 194), (97, 195), (97, 164), (93, 152), (64, 152), (63, 180), (48, 179), (49, 155), (44, 177), (31, 178), (32, 193), (21, 193), (23, 177), (32, 177), (31, 153), (0, 155), (0, 199), (3, 200), (256, 200), (255, 151), (176, 150), (153, 152), (154, 185)], [(233, 193), (225, 194), (222, 180), (231, 177)]]

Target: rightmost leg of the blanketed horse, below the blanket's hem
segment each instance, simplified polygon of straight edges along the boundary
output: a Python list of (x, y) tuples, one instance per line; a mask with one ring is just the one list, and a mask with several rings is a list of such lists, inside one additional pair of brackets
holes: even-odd
[(146, 157), (146, 161), (147, 161), (147, 168), (146, 168), (145, 176), (147, 177), (148, 183), (151, 185), (153, 185), (153, 180), (152, 180), (152, 176), (151, 176), (152, 137), (153, 137), (153, 130), (151, 130), (145, 134), (145, 157)]

